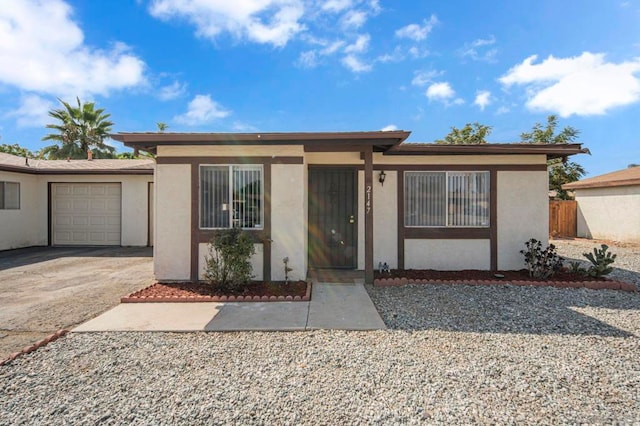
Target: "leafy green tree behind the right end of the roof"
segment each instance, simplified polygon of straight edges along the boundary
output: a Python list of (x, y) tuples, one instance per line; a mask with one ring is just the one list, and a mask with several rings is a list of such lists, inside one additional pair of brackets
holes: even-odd
[[(558, 117), (550, 115), (547, 117), (546, 126), (540, 123), (533, 125), (531, 132), (522, 133), (520, 140), (523, 143), (539, 143), (539, 144), (565, 144), (576, 140), (580, 131), (571, 126), (566, 126), (559, 132)], [(549, 191), (556, 192), (556, 198), (559, 200), (570, 200), (571, 196), (562, 189), (565, 183), (580, 180), (585, 174), (585, 169), (578, 163), (573, 161), (563, 161), (560, 158), (547, 161), (549, 169)]]

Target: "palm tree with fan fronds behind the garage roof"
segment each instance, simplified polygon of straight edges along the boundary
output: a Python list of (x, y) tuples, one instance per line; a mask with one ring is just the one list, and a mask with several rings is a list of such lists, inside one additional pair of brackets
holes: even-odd
[(56, 144), (43, 148), (42, 154), (49, 159), (82, 159), (87, 158), (87, 151), (91, 150), (95, 158), (114, 158), (115, 148), (104, 142), (113, 126), (108, 120), (111, 114), (106, 114), (102, 108), (95, 109), (95, 102), (80, 102), (80, 98), (76, 98), (77, 107), (58, 100), (64, 108), (49, 111), (49, 116), (58, 123), (46, 126), (56, 133), (42, 138)]

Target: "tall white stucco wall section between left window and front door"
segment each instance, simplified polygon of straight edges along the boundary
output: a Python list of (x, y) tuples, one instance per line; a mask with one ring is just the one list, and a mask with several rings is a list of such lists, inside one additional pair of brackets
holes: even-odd
[(271, 279), (284, 280), (289, 258), (290, 279), (304, 279), (307, 272), (305, 167), (302, 164), (271, 166)]

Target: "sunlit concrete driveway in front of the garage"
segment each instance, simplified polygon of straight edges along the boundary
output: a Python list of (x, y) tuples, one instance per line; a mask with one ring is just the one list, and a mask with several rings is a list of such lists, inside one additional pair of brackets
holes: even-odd
[(0, 252), (0, 359), (95, 317), (152, 281), (149, 247)]

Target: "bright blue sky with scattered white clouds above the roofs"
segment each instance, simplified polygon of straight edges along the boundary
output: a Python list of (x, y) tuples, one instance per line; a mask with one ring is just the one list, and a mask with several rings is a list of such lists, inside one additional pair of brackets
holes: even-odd
[(597, 175), (640, 163), (640, 0), (0, 0), (0, 143), (46, 145), (76, 96), (116, 132), (517, 142), (558, 114)]

